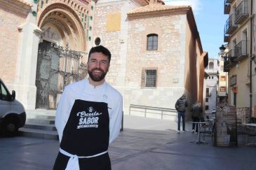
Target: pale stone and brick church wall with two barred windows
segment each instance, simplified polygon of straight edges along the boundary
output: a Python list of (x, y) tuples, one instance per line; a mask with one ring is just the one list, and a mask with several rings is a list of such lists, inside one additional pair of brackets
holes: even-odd
[(125, 113), (130, 104), (175, 108), (182, 94), (203, 101), (208, 56), (196, 30), (189, 6), (97, 2), (93, 38), (113, 52), (107, 80), (122, 92)]

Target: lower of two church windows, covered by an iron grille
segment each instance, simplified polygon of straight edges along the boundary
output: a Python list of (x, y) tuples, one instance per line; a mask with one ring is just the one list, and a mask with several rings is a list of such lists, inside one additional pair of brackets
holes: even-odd
[(142, 88), (156, 88), (157, 69), (142, 69)]

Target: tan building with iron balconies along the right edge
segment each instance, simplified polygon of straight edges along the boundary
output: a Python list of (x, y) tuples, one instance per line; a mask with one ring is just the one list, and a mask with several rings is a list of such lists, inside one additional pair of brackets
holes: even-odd
[(244, 122), (255, 118), (255, 9), (252, 0), (224, 1), (224, 14), (229, 15), (224, 27), (224, 42), (229, 48), (224, 55), (228, 101)]

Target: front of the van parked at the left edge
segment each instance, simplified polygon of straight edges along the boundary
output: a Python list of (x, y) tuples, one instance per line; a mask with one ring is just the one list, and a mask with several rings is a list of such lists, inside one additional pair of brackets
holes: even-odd
[(14, 136), (25, 122), (24, 106), (15, 100), (15, 91), (10, 94), (0, 78), (0, 131), (6, 136)]

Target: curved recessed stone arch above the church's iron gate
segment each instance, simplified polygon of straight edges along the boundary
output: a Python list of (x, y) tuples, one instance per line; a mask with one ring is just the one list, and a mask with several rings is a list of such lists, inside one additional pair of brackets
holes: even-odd
[(43, 30), (49, 24), (60, 31), (63, 46), (69, 45), (72, 50), (86, 50), (86, 32), (81, 19), (67, 4), (52, 3), (41, 11), (38, 17), (39, 28)]

